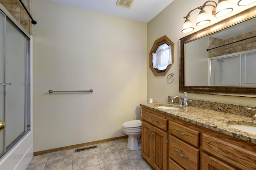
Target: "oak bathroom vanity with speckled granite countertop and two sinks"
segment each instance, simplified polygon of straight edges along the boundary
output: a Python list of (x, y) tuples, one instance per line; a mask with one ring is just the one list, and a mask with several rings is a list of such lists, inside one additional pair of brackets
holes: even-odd
[(255, 131), (248, 133), (246, 129), (232, 127), (249, 125), (256, 128), (256, 122), (252, 121), (255, 111), (246, 111), (245, 116), (228, 113), (228, 110), (244, 111), (246, 106), (230, 109), (229, 104), (209, 102), (208, 106), (216, 107), (206, 105), (202, 108), (200, 104), (199, 107), (185, 108), (170, 105), (170, 102), (140, 106), (142, 156), (154, 169), (256, 169)]

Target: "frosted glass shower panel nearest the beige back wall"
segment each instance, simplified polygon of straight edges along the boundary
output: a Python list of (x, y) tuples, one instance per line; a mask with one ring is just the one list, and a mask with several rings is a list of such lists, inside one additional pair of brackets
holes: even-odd
[(5, 146), (12, 146), (25, 129), (25, 49), (26, 38), (9, 20), (6, 20), (5, 81)]

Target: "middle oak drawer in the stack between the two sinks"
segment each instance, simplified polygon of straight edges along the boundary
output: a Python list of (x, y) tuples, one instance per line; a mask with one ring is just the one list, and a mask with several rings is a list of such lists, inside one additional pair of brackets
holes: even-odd
[(198, 170), (199, 149), (169, 135), (169, 156), (187, 170)]

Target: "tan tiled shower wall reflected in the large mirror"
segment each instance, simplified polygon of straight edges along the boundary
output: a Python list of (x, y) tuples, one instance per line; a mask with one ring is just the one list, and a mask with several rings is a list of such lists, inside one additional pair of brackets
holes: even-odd
[[(247, 50), (251, 50), (251, 49), (256, 49), (256, 37), (254, 38), (250, 38), (256, 36), (256, 31), (252, 31), (250, 33), (245, 33), (242, 35), (238, 35), (237, 37), (233, 37), (230, 39), (217, 39), (217, 38), (212, 38), (209, 37), (209, 42), (210, 42), (210, 47), (209, 48), (214, 48), (214, 47), (218, 47), (220, 45), (224, 45), (224, 44), (228, 44), (228, 43), (232, 43), (230, 45), (225, 45), (223, 47), (219, 47), (216, 49), (212, 49), (208, 52), (208, 57), (217, 57), (220, 55), (224, 55), (228, 50), (232, 50), (230, 53), (237, 53), (237, 52), (241, 52), (241, 51), (247, 51)], [(250, 38), (250, 39), (246, 39), (246, 38)], [(246, 39), (237, 43), (233, 43), (242, 39)]]

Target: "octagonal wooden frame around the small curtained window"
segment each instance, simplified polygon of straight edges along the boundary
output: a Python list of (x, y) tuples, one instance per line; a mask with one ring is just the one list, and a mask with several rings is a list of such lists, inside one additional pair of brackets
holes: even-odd
[(153, 68), (153, 57), (152, 57), (152, 53), (155, 53), (156, 52), (156, 49), (158, 48), (159, 45), (162, 45), (162, 44), (168, 44), (168, 45), (171, 45), (172, 46), (172, 64), (174, 63), (174, 43), (166, 36), (162, 36), (161, 38), (157, 39), (155, 42), (154, 42), (154, 45), (152, 46), (151, 48), (151, 51), (149, 53), (149, 68), (150, 70), (153, 72), (153, 74), (155, 76), (165, 76), (166, 73), (168, 72), (168, 70), (171, 68), (172, 64), (169, 64), (165, 71), (164, 72), (160, 72), (158, 71), (157, 68)]

